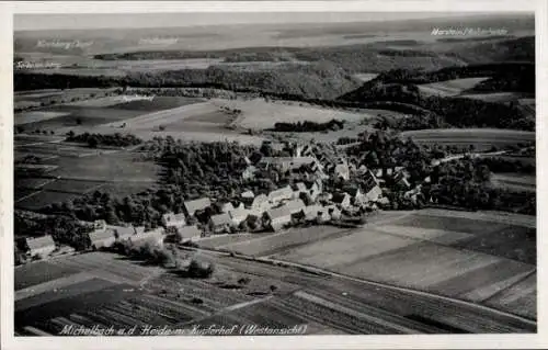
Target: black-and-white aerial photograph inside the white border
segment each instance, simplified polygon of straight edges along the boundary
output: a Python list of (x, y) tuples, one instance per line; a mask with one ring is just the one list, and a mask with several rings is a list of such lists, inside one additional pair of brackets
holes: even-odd
[(16, 338), (537, 334), (533, 12), (13, 35)]

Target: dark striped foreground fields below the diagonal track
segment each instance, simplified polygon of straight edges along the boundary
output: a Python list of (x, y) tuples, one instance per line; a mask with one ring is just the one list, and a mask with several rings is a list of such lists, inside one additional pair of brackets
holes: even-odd
[[(34, 281), (32, 290), (21, 284), (18, 289), (16, 334), (58, 335), (66, 325), (99, 325), (115, 329), (136, 326), (134, 336), (138, 336), (147, 326), (192, 329), (193, 325), (206, 328), (213, 324), (272, 328), (305, 325), (307, 335), (535, 330), (527, 320), (449, 300), (433, 301), (412, 291), (197, 255), (216, 264), (213, 278), (187, 279), (106, 252), (53, 259), (47, 263), (67, 270)], [(16, 269), (15, 276), (27, 279), (32, 266)], [(238, 285), (243, 276), (250, 282)], [(270, 285), (276, 285), (276, 291), (269, 291)], [(198, 298), (201, 303), (193, 302)], [(452, 317), (454, 313), (466, 315), (467, 321)]]

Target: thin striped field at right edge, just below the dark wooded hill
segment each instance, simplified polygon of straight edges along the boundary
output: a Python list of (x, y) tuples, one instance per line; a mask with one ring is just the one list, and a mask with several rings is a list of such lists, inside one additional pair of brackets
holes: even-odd
[(418, 144), (423, 145), (473, 145), (477, 151), (490, 150), (493, 146), (498, 148), (505, 148), (509, 146), (535, 142), (534, 132), (513, 129), (439, 128), (403, 132), (400, 135), (402, 138), (411, 137)]

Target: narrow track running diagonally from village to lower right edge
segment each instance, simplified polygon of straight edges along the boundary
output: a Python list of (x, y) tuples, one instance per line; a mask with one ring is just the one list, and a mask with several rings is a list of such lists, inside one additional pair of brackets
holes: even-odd
[(217, 250), (214, 250), (214, 249), (205, 249), (205, 248), (194, 248), (194, 249), (195, 250), (209, 251), (209, 252), (214, 252), (214, 253), (226, 256), (226, 257), (239, 258), (239, 259), (243, 259), (243, 260), (248, 260), (248, 261), (258, 261), (258, 262), (270, 263), (270, 264), (275, 263), (275, 264), (278, 264), (278, 266), (283, 266), (283, 267), (298, 268), (298, 269), (302, 269), (304, 271), (307, 271), (307, 272), (310, 271), (310, 273), (320, 273), (320, 274), (324, 274), (324, 275), (340, 278), (340, 279), (343, 279), (343, 280), (349, 280), (349, 281), (353, 281), (353, 282), (369, 284), (369, 285), (373, 285), (373, 286), (384, 287), (384, 289), (387, 289), (387, 290), (392, 290), (392, 291), (398, 291), (398, 292), (404, 292), (404, 293), (409, 293), (409, 294), (414, 294), (414, 295), (430, 297), (430, 298), (433, 298), (433, 300), (439, 300), (439, 301), (444, 301), (444, 302), (449, 302), (449, 303), (454, 303), (454, 304), (466, 306), (466, 307), (482, 309), (482, 311), (486, 311), (486, 312), (489, 312), (489, 313), (496, 314), (499, 316), (504, 316), (504, 317), (512, 318), (514, 320), (518, 320), (518, 321), (527, 324), (529, 326), (535, 326), (535, 327), (537, 326), (537, 321), (536, 320), (533, 320), (533, 319), (529, 319), (529, 318), (526, 318), (526, 317), (523, 317), (523, 316), (518, 316), (518, 315), (515, 315), (515, 314), (503, 312), (503, 311), (500, 311), (500, 309), (496, 309), (496, 308), (492, 308), (492, 307), (489, 307), (489, 306), (486, 306), (486, 305), (481, 305), (481, 304), (477, 304), (477, 303), (472, 303), (472, 302), (467, 302), (467, 301), (464, 301), (464, 300), (458, 300), (458, 298), (453, 298), (453, 297), (448, 297), (448, 296), (443, 296), (443, 295), (434, 294), (434, 293), (431, 293), (431, 292), (424, 292), (424, 291), (413, 290), (413, 289), (409, 289), (409, 287), (404, 287), (404, 286), (391, 285), (391, 284), (387, 284), (387, 283), (383, 283), (383, 282), (372, 281), (372, 280), (358, 279), (358, 278), (354, 278), (354, 276), (351, 276), (351, 275), (342, 274), (342, 273), (339, 273), (339, 272), (333, 272), (333, 271), (330, 271), (330, 270), (326, 270), (326, 269), (321, 269), (321, 268), (316, 268), (316, 267), (311, 267), (311, 266), (307, 266), (307, 264), (302, 264), (302, 263), (290, 262), (290, 261), (284, 261), (284, 260), (277, 260), (277, 259), (267, 259), (267, 258), (253, 258), (253, 257), (249, 257), (249, 256), (240, 255), (240, 253), (232, 253), (231, 255), (231, 253), (227, 253), (227, 252), (222, 252), (222, 251), (217, 251)]

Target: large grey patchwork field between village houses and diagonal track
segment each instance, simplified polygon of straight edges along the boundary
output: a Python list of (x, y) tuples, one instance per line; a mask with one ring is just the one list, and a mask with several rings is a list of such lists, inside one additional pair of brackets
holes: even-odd
[(362, 229), (292, 229), (228, 245), (219, 241), (216, 248), (476, 302), (535, 270), (536, 229), (528, 227), (534, 222), (523, 215), (499, 221), (495, 214), (465, 214), (408, 212), (375, 218)]

